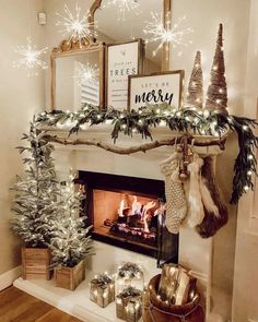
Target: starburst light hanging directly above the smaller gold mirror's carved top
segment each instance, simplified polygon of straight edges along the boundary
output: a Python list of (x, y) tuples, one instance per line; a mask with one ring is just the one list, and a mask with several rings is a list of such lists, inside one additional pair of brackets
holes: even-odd
[(82, 10), (78, 3), (75, 5), (75, 14), (70, 11), (67, 4), (64, 4), (63, 11), (63, 14), (57, 12), (60, 20), (56, 25), (62, 27), (60, 32), (70, 37), (70, 40), (79, 40), (81, 44), (83, 38), (92, 40), (97, 37), (95, 23), (89, 22), (89, 13), (82, 14)]

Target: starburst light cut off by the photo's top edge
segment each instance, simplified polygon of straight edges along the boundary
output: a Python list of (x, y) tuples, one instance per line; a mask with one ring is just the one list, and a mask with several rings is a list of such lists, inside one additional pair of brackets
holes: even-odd
[(137, 15), (139, 14), (138, 0), (108, 0), (106, 7), (117, 8), (118, 21), (125, 21), (127, 13), (130, 13), (130, 12), (133, 12)]

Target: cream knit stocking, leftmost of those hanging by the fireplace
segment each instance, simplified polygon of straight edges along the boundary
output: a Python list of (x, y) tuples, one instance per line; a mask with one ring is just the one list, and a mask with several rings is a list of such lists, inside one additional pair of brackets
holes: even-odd
[(187, 213), (187, 204), (183, 183), (178, 179), (178, 153), (174, 153), (172, 157), (161, 164), (161, 171), (165, 176), (165, 225), (172, 234), (178, 234), (180, 223)]

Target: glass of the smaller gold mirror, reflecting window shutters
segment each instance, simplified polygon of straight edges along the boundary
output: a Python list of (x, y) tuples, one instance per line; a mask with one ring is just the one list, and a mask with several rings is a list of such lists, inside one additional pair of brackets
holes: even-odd
[(85, 103), (101, 105), (101, 70), (97, 51), (79, 52), (55, 59), (56, 109), (74, 111)]

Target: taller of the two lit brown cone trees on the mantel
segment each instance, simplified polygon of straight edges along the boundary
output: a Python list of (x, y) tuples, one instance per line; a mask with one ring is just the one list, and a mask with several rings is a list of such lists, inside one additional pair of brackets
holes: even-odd
[(223, 49), (223, 25), (220, 24), (216, 49), (211, 69), (211, 81), (207, 93), (206, 108), (227, 112), (227, 87)]

